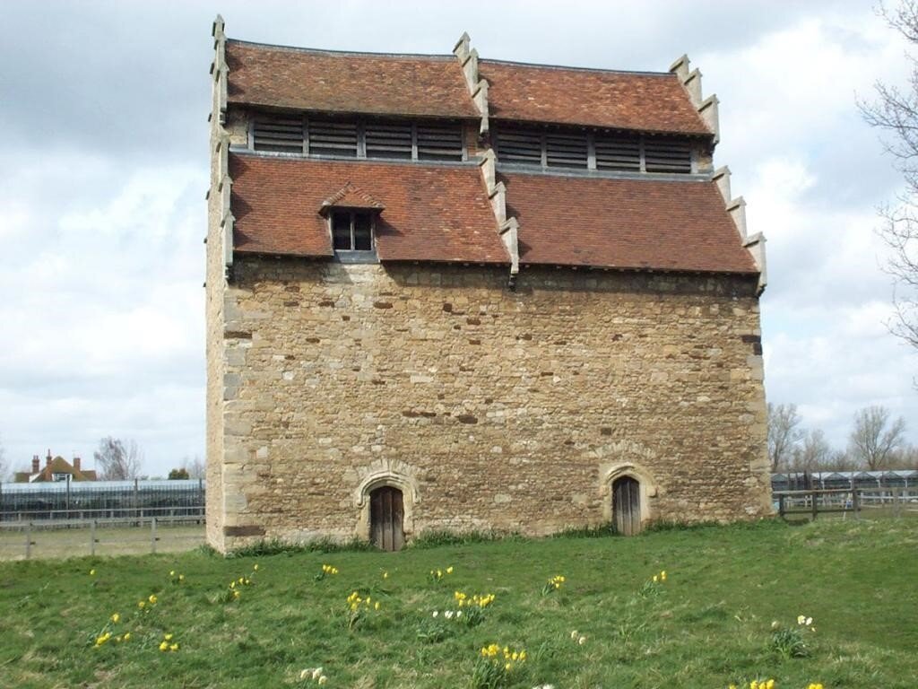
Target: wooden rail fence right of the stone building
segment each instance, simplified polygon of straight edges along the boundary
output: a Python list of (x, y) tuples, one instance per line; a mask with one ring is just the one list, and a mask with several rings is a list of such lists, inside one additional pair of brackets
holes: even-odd
[(894, 517), (918, 514), (918, 490), (911, 487), (773, 491), (772, 497), (778, 501), (778, 515), (785, 519), (816, 519), (820, 514), (852, 514), (859, 519), (865, 512), (878, 510)]

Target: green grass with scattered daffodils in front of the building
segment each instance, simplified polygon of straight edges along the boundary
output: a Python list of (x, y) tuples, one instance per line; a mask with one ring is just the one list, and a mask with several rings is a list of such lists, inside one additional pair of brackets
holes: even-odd
[[(340, 573), (317, 581), (325, 562)], [(430, 581), (431, 569), (448, 566), (453, 574)], [(170, 570), (185, 581), (171, 582)], [(660, 570), (667, 581), (646, 587)], [(543, 595), (556, 574), (564, 585)], [(219, 602), (243, 575), (252, 585)], [(916, 582), (918, 528), (895, 520), (429, 541), (397, 554), (265, 548), (223, 559), (201, 548), (4, 562), (0, 685), (316, 686), (299, 675), (321, 665), (328, 687), (467, 687), (480, 649), (497, 642), (527, 650), (507, 684), (526, 689), (725, 689), (764, 678), (778, 689), (913, 689)], [(432, 620), (433, 610), (442, 620), (455, 607), (456, 589), (496, 595), (477, 626)], [(349, 629), (353, 591), (381, 609)], [(138, 601), (151, 594), (157, 604), (140, 613)], [(131, 639), (94, 648), (115, 612), (114, 633)], [(802, 658), (777, 648), (771, 628), (772, 620), (796, 627), (800, 614), (816, 627), (803, 635)], [(582, 645), (575, 629), (587, 637)], [(158, 649), (165, 633), (176, 652)]]

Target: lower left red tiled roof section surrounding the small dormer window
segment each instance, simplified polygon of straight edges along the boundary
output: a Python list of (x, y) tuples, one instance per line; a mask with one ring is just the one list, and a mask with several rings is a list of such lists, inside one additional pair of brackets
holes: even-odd
[(386, 164), (229, 155), (237, 252), (330, 256), (324, 199), (349, 183), (386, 206), (382, 261), (509, 264), (475, 165)]

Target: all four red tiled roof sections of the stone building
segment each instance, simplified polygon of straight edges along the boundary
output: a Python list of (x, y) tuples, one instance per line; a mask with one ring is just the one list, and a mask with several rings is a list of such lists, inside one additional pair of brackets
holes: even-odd
[[(480, 117), (453, 57), (312, 51), (230, 40), (226, 62), (230, 105), (421, 119)], [(477, 64), (489, 84), (488, 117), (498, 121), (498, 128), (508, 121), (542, 122), (713, 141), (714, 132), (676, 74)], [(507, 187), (506, 215), (519, 220), (521, 265), (758, 273), (709, 178), (614, 178), (552, 169), (530, 175), (510, 173), (499, 161), (498, 172)], [(376, 235), (383, 262), (511, 262), (488, 201), (494, 190), (475, 164), (256, 152), (231, 154), (229, 176), (238, 254), (332, 257), (322, 203), (350, 185), (385, 207)]]

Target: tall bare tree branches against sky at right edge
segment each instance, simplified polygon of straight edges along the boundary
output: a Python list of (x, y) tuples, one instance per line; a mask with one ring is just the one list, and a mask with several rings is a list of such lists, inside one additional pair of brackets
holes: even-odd
[[(918, 0), (903, 0), (896, 9), (880, 6), (891, 28), (918, 45)], [(868, 124), (883, 132), (883, 145), (905, 180), (894, 206), (880, 209), (879, 236), (890, 248), (886, 270), (895, 284), (892, 333), (918, 348), (918, 61), (911, 55), (905, 89), (878, 82), (877, 100), (858, 103)]]

